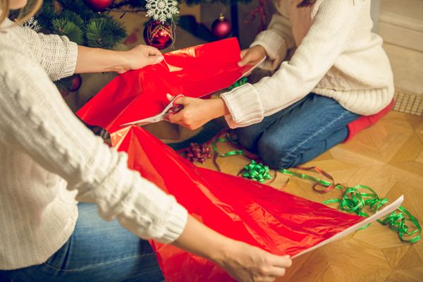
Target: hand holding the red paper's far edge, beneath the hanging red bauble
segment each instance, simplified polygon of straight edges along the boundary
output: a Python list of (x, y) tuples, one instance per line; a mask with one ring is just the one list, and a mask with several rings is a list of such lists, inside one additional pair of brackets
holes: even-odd
[(137, 45), (128, 51), (121, 52), (122, 66), (116, 71), (125, 73), (125, 71), (137, 70), (145, 66), (154, 65), (163, 61), (164, 56), (159, 49), (147, 45)]

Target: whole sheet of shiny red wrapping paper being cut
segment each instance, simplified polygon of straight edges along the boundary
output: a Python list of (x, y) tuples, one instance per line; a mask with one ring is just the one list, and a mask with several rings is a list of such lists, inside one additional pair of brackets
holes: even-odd
[[(298, 255), (363, 220), (267, 185), (198, 168), (147, 131), (118, 125), (159, 113), (166, 93), (203, 97), (238, 80), (236, 39), (165, 54), (165, 61), (112, 80), (78, 116), (111, 132), (128, 166), (176, 197), (188, 212), (235, 240), (278, 255)], [(172, 245), (150, 242), (166, 281), (232, 281), (223, 269)]]

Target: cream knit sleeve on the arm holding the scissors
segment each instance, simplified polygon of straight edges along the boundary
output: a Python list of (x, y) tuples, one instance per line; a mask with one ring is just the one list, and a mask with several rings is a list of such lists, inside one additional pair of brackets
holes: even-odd
[(255, 85), (245, 84), (221, 95), (231, 128), (259, 123), (305, 97), (326, 75), (345, 46), (362, 1), (317, 1), (309, 32), (290, 61)]

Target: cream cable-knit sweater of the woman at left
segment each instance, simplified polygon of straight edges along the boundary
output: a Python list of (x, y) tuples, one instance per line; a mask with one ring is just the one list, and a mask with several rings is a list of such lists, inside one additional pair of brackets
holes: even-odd
[(45, 262), (66, 243), (77, 201), (140, 238), (176, 240), (188, 218), (78, 121), (51, 82), (75, 70), (77, 46), (23, 27), (0, 31), (0, 269)]

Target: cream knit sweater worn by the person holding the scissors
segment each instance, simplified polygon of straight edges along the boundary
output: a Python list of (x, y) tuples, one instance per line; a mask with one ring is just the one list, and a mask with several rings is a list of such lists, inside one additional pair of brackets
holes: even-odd
[[(302, 10), (307, 8), (295, 7), (299, 2), (280, 0), (279, 13), (252, 44), (266, 49), (267, 65), (280, 66), (278, 71), (221, 95), (231, 128), (259, 123), (309, 92), (360, 115), (375, 114), (391, 102), (393, 75), (381, 37), (371, 32), (370, 0), (317, 0), (308, 15)], [(281, 63), (295, 45), (292, 59)]]

